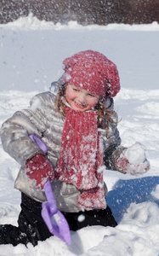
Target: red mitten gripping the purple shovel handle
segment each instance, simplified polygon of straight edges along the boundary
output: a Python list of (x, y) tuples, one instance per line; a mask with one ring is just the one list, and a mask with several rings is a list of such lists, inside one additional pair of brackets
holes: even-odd
[(26, 175), (36, 181), (37, 189), (43, 189), (43, 185), (54, 178), (54, 169), (43, 154), (37, 154), (26, 162)]

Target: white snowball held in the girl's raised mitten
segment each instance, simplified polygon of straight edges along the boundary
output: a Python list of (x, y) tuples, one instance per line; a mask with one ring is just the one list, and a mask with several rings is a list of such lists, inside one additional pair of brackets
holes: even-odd
[(135, 143), (126, 150), (125, 156), (130, 164), (139, 165), (145, 161), (145, 146), (141, 143)]

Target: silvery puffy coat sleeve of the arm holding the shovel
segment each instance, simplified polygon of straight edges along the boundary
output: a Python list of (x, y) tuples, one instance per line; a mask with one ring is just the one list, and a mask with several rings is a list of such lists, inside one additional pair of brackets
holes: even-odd
[[(31, 106), (35, 104), (36, 98), (31, 102)], [(33, 143), (29, 137), (31, 134), (42, 137), (43, 134), (31, 122), (29, 117), (32, 114), (31, 108), (18, 111), (3, 123), (0, 130), (4, 151), (13, 157), (22, 167), (26, 165), (26, 160), (31, 159), (34, 155), (43, 154), (42, 149), (36, 143)]]

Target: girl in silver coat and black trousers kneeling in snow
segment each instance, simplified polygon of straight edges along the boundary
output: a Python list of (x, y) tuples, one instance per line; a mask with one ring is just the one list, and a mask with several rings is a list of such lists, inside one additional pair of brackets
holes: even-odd
[[(128, 149), (120, 145), (112, 100), (120, 90), (116, 65), (105, 55), (86, 50), (65, 59), (63, 68), (64, 75), (50, 92), (34, 96), (30, 108), (14, 113), (2, 126), (3, 149), (21, 166), (15, 188), (22, 196), (19, 226), (1, 225), (1, 244), (36, 246), (52, 236), (41, 217), (48, 178), (71, 230), (115, 227), (105, 201), (103, 166), (132, 174), (150, 167), (145, 159), (137, 166), (129, 163)], [(31, 140), (32, 135), (43, 141), (47, 152)]]

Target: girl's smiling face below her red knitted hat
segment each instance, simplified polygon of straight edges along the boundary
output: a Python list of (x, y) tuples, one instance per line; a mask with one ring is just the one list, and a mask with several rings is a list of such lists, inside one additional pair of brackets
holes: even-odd
[(99, 101), (99, 96), (72, 84), (67, 85), (65, 97), (71, 108), (77, 112), (91, 110)]

